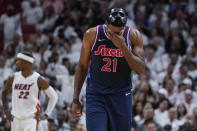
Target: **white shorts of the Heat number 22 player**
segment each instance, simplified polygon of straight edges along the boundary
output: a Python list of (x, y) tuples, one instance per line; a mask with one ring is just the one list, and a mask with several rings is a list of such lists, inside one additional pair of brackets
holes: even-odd
[(11, 123), (11, 131), (38, 131), (38, 122), (34, 118), (14, 118)]

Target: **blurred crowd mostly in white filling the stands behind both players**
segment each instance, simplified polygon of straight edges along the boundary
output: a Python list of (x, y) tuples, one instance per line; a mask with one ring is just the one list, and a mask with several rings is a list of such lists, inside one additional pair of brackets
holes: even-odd
[[(21, 51), (33, 52), (34, 70), (59, 96), (40, 131), (86, 130), (85, 108), (81, 120), (71, 115), (74, 73), (84, 32), (105, 23), (110, 7), (127, 9), (127, 26), (143, 38), (145, 73), (132, 77), (133, 129), (197, 131), (196, 0), (0, 0), (0, 5), (0, 97)], [(42, 92), (42, 112), (47, 101)], [(9, 130), (0, 100), (0, 131)]]

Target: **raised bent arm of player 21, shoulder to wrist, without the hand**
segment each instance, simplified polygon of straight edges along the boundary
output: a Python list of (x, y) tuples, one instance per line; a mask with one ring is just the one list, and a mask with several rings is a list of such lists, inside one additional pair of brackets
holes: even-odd
[(121, 50), (124, 54), (127, 63), (129, 64), (129, 67), (132, 70), (134, 70), (137, 74), (142, 74), (144, 73), (145, 62), (143, 41), (140, 32), (137, 30), (131, 30), (130, 41), (132, 51), (129, 50), (126, 46), (122, 46)]

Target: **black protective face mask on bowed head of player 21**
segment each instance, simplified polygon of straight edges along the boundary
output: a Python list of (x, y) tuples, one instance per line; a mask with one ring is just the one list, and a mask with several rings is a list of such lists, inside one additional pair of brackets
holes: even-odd
[(113, 26), (125, 26), (127, 23), (127, 13), (122, 8), (113, 8), (108, 12), (107, 21)]

